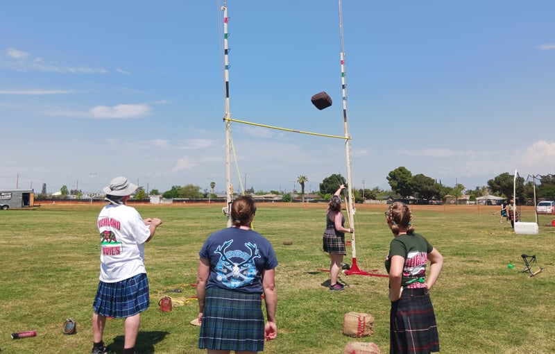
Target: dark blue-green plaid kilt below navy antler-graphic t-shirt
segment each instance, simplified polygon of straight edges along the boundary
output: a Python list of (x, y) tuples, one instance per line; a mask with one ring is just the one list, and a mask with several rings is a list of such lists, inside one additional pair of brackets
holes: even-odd
[(264, 351), (264, 324), (260, 294), (209, 287), (198, 348)]

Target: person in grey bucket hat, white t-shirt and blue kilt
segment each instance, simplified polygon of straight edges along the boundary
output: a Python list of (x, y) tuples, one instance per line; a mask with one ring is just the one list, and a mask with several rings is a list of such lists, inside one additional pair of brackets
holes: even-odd
[(137, 185), (125, 177), (114, 178), (104, 187), (108, 201), (97, 221), (100, 242), (100, 281), (92, 305), (92, 354), (108, 353), (103, 332), (107, 317), (125, 319), (123, 354), (135, 353), (141, 312), (149, 305), (148, 278), (144, 267), (144, 244), (162, 224), (157, 218), (142, 219), (126, 205)]

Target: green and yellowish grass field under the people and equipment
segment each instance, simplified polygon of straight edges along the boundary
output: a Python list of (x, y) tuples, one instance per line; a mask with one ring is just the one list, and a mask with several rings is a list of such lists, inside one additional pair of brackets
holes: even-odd
[[(196, 348), (195, 295), (198, 251), (210, 233), (225, 226), (221, 204), (137, 205), (143, 217), (164, 224), (146, 245), (151, 308), (142, 314), (138, 353), (205, 353)], [(99, 276), (96, 216), (102, 204), (42, 205), (38, 210), (0, 212), (0, 352), (89, 353), (92, 300)], [(388, 353), (390, 303), (387, 278), (341, 276), (345, 292), (327, 290), (329, 258), (321, 251), (325, 204), (261, 203), (255, 229), (271, 240), (280, 265), (278, 338), (264, 353), (343, 353), (348, 342), (374, 342)], [(357, 205), (356, 251), (359, 268), (385, 273), (384, 259), (393, 237), (386, 205)], [(443, 254), (443, 273), (432, 302), (441, 353), (555, 353), (554, 215), (540, 215), (539, 235), (515, 235), (499, 224), (498, 207), (483, 205), (413, 207), (413, 224)], [(534, 221), (523, 207), (522, 221)], [(284, 239), (293, 239), (291, 246)], [(520, 255), (536, 255), (533, 278), (520, 273)], [(351, 248), (345, 262), (351, 264)], [(507, 264), (514, 264), (510, 269)], [(180, 289), (181, 292), (174, 292)], [(160, 311), (165, 295), (176, 300), (172, 312)], [(343, 315), (375, 317), (371, 337), (342, 334)], [(67, 317), (77, 333), (64, 335)], [(12, 332), (37, 336), (11, 339)], [(108, 320), (105, 343), (123, 348), (122, 320)]]

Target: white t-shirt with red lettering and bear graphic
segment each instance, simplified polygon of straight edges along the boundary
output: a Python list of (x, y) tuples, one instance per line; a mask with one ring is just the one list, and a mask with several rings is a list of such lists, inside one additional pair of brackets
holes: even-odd
[(99, 214), (98, 227), (101, 281), (116, 283), (146, 273), (144, 242), (151, 236), (151, 230), (135, 208), (106, 205)]

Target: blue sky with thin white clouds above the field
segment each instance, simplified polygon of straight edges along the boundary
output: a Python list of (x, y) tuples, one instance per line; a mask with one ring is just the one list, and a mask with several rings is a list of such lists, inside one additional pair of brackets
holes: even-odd
[[(235, 192), (554, 174), (555, 2), (228, 0)], [(7, 1), (0, 189), (225, 190), (223, 0)], [(346, 124), (341, 90), (345, 53)], [(316, 109), (311, 96), (333, 104)], [(348, 158), (349, 157), (349, 158)], [(349, 163), (348, 163), (349, 162)]]

